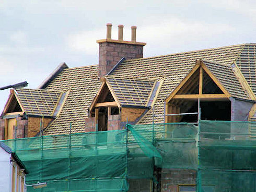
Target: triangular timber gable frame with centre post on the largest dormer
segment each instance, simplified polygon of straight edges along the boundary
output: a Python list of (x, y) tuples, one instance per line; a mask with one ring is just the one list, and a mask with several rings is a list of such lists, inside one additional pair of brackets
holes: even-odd
[[(199, 72), (199, 94), (177, 94), (178, 91), (185, 86), (185, 83), (189, 81), (192, 75), (197, 71)], [(218, 88), (222, 90), (223, 94), (203, 94), (203, 70), (205, 73), (212, 78), (216, 83)], [(212, 72), (206, 67), (203, 59), (196, 59), (196, 65), (190, 70), (187, 76), (179, 83), (179, 85), (172, 91), (172, 93), (166, 98), (166, 104), (170, 102), (171, 99), (228, 99), (231, 97), (229, 92), (224, 88), (222, 83), (212, 74)]]

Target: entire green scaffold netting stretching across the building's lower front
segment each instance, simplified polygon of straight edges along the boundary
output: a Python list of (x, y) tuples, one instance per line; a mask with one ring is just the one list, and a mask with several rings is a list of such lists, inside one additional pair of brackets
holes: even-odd
[(223, 121), (127, 125), (127, 130), (3, 142), (27, 167), (27, 184), (48, 183), (28, 191), (128, 191), (139, 181), (156, 183), (154, 167), (159, 167), (197, 171), (199, 192), (255, 192), (254, 126)]

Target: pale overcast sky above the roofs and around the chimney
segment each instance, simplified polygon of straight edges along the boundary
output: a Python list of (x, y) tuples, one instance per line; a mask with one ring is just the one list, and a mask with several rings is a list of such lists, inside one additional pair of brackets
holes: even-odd
[[(62, 62), (98, 64), (96, 40), (146, 42), (144, 57), (256, 42), (256, 1), (0, 0), (0, 87), (28, 81), (31, 89)], [(9, 90), (0, 92), (0, 111)]]

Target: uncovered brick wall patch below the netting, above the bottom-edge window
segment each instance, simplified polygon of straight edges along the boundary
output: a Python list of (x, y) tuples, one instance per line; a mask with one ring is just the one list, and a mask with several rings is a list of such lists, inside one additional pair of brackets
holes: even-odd
[(196, 171), (162, 169), (161, 192), (176, 192), (179, 184), (196, 185)]

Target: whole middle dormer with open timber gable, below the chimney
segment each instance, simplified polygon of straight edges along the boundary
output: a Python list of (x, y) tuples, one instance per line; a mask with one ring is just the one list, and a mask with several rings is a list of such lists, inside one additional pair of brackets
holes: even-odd
[(122, 129), (127, 122), (135, 124), (152, 107), (160, 81), (142, 78), (106, 76), (92, 101), (86, 129)]

